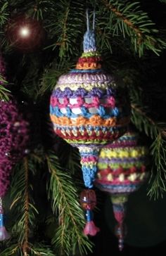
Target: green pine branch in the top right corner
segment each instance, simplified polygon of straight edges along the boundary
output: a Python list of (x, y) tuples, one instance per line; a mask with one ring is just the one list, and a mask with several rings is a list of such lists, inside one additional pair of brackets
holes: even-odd
[[(159, 37), (159, 31), (154, 27), (148, 14), (140, 10), (139, 2), (101, 0), (102, 4), (111, 11), (108, 24), (113, 35), (122, 34), (129, 37), (134, 51), (143, 56), (145, 49), (159, 55), (166, 47), (166, 41)], [(108, 13), (107, 13), (108, 17)]]

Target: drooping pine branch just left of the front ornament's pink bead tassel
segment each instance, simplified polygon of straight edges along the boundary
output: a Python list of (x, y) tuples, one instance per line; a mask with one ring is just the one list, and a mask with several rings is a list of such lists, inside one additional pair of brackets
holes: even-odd
[(52, 243), (59, 251), (59, 255), (74, 255), (77, 247), (81, 254), (87, 253), (87, 250), (91, 250), (91, 243), (82, 233), (84, 215), (78, 203), (72, 177), (60, 168), (55, 155), (48, 155), (46, 160), (51, 172), (49, 198), (52, 200), (53, 212), (58, 210), (59, 222)]

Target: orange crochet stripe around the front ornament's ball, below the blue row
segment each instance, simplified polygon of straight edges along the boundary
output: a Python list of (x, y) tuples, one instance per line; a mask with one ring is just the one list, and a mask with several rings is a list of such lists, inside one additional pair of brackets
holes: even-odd
[(86, 117), (77, 117), (77, 118), (68, 118), (68, 117), (56, 117), (54, 115), (51, 116), (51, 121), (55, 124), (59, 125), (68, 125), (68, 126), (75, 126), (75, 125), (103, 125), (108, 127), (115, 127), (115, 126), (122, 126), (129, 123), (129, 117), (122, 117), (120, 120), (117, 120), (116, 117), (103, 119), (98, 115), (93, 115), (90, 118)]

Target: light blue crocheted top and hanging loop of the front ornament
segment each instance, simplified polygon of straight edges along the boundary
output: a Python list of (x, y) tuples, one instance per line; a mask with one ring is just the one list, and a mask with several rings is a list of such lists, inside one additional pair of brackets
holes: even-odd
[(96, 51), (96, 38), (95, 38), (95, 11), (93, 12), (93, 24), (92, 24), (92, 30), (90, 30), (89, 26), (89, 11), (87, 9), (87, 32), (84, 34), (84, 52), (88, 51)]

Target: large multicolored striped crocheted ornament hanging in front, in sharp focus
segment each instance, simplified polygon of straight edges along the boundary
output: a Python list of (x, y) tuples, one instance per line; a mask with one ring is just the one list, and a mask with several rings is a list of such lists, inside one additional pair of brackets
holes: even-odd
[(101, 68), (87, 15), (84, 53), (74, 70), (59, 77), (50, 105), (54, 131), (79, 149), (87, 188), (94, 185), (100, 148), (124, 134), (129, 123), (129, 103), (118, 90), (113, 75)]

